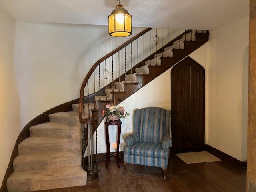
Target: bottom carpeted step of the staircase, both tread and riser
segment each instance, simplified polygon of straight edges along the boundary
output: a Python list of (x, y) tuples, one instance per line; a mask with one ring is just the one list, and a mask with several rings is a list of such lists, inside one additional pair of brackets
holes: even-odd
[(8, 192), (26, 192), (86, 185), (81, 166), (14, 172), (7, 180)]

